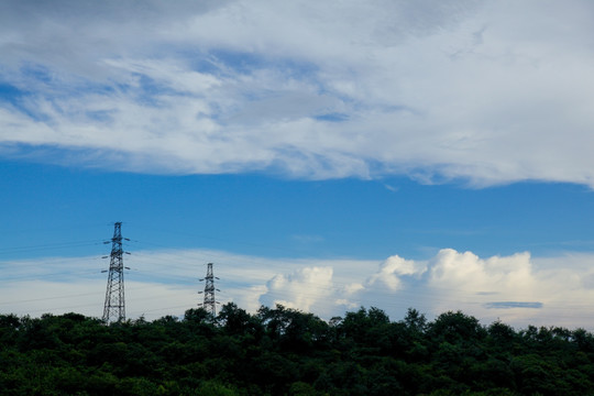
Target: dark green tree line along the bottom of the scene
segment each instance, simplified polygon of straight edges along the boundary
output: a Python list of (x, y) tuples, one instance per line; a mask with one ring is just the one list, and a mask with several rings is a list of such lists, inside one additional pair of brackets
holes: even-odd
[(277, 305), (250, 314), (106, 326), (78, 314), (0, 315), (1, 395), (594, 395), (594, 337), (483, 326), (415, 309), (324, 321)]

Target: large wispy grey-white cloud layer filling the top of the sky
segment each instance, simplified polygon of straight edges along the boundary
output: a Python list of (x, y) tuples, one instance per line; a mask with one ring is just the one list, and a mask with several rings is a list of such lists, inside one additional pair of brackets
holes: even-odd
[(3, 1), (0, 156), (594, 186), (593, 19), (587, 0)]

